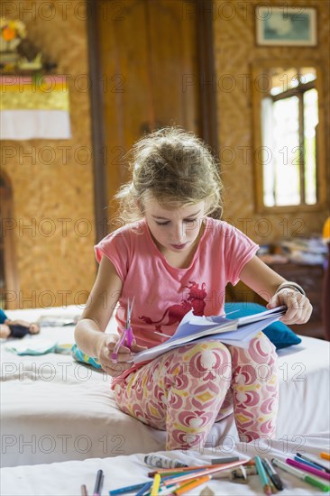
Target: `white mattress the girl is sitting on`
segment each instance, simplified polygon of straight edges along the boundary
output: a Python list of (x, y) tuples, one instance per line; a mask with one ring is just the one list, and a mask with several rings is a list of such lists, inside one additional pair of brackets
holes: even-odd
[[(8, 311), (11, 318), (70, 314), (77, 308)], [(80, 309), (80, 312), (82, 310)], [(115, 321), (109, 323), (113, 329)], [(43, 328), (41, 336), (73, 343), (73, 327)], [(35, 340), (37, 336), (27, 336)], [(280, 411), (277, 438), (299, 443), (300, 436), (329, 427), (329, 343), (304, 337), (280, 351)], [(149, 453), (165, 448), (165, 432), (121, 412), (111, 378), (69, 355), (17, 356), (1, 344), (2, 466), (50, 464), (91, 457)], [(215, 424), (208, 446), (237, 441), (233, 416)]]

